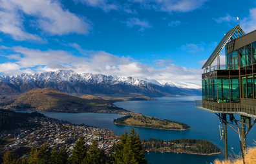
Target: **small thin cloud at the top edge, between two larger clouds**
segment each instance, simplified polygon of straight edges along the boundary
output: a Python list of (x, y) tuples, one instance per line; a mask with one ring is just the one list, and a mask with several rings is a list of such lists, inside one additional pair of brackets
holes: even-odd
[(120, 4), (118, 1), (109, 0), (73, 0), (75, 3), (82, 3), (94, 8), (100, 8), (103, 12), (110, 12), (111, 10), (122, 11), (127, 14), (138, 14), (136, 10), (131, 9), (131, 4)]

